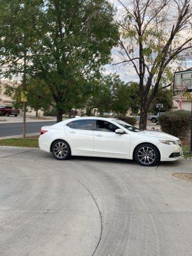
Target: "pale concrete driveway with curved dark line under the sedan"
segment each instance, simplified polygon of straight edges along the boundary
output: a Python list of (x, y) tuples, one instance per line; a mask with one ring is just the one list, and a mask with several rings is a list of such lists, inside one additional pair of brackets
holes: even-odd
[(0, 147), (0, 255), (189, 256), (191, 170)]

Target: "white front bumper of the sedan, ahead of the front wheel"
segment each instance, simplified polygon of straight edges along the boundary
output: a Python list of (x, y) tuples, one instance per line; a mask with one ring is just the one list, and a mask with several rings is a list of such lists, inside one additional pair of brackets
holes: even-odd
[(182, 147), (180, 145), (166, 145), (160, 143), (158, 145), (161, 154), (161, 161), (175, 161), (183, 156)]

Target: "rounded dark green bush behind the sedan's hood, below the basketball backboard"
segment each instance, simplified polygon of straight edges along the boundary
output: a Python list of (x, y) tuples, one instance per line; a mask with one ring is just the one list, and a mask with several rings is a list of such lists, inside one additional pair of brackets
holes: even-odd
[(158, 120), (163, 132), (183, 139), (190, 131), (190, 117), (190, 111), (177, 110), (159, 116)]

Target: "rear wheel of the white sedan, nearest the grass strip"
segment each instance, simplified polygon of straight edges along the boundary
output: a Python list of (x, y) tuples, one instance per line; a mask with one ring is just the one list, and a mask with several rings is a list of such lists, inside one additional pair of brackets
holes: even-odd
[(52, 156), (58, 160), (67, 160), (71, 156), (70, 147), (64, 140), (56, 140), (51, 147)]

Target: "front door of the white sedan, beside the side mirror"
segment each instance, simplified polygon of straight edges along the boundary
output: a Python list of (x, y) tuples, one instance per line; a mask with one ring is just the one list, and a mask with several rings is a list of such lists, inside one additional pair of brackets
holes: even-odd
[(94, 149), (97, 156), (129, 158), (130, 135), (116, 134), (120, 129), (115, 124), (105, 120), (94, 122)]

